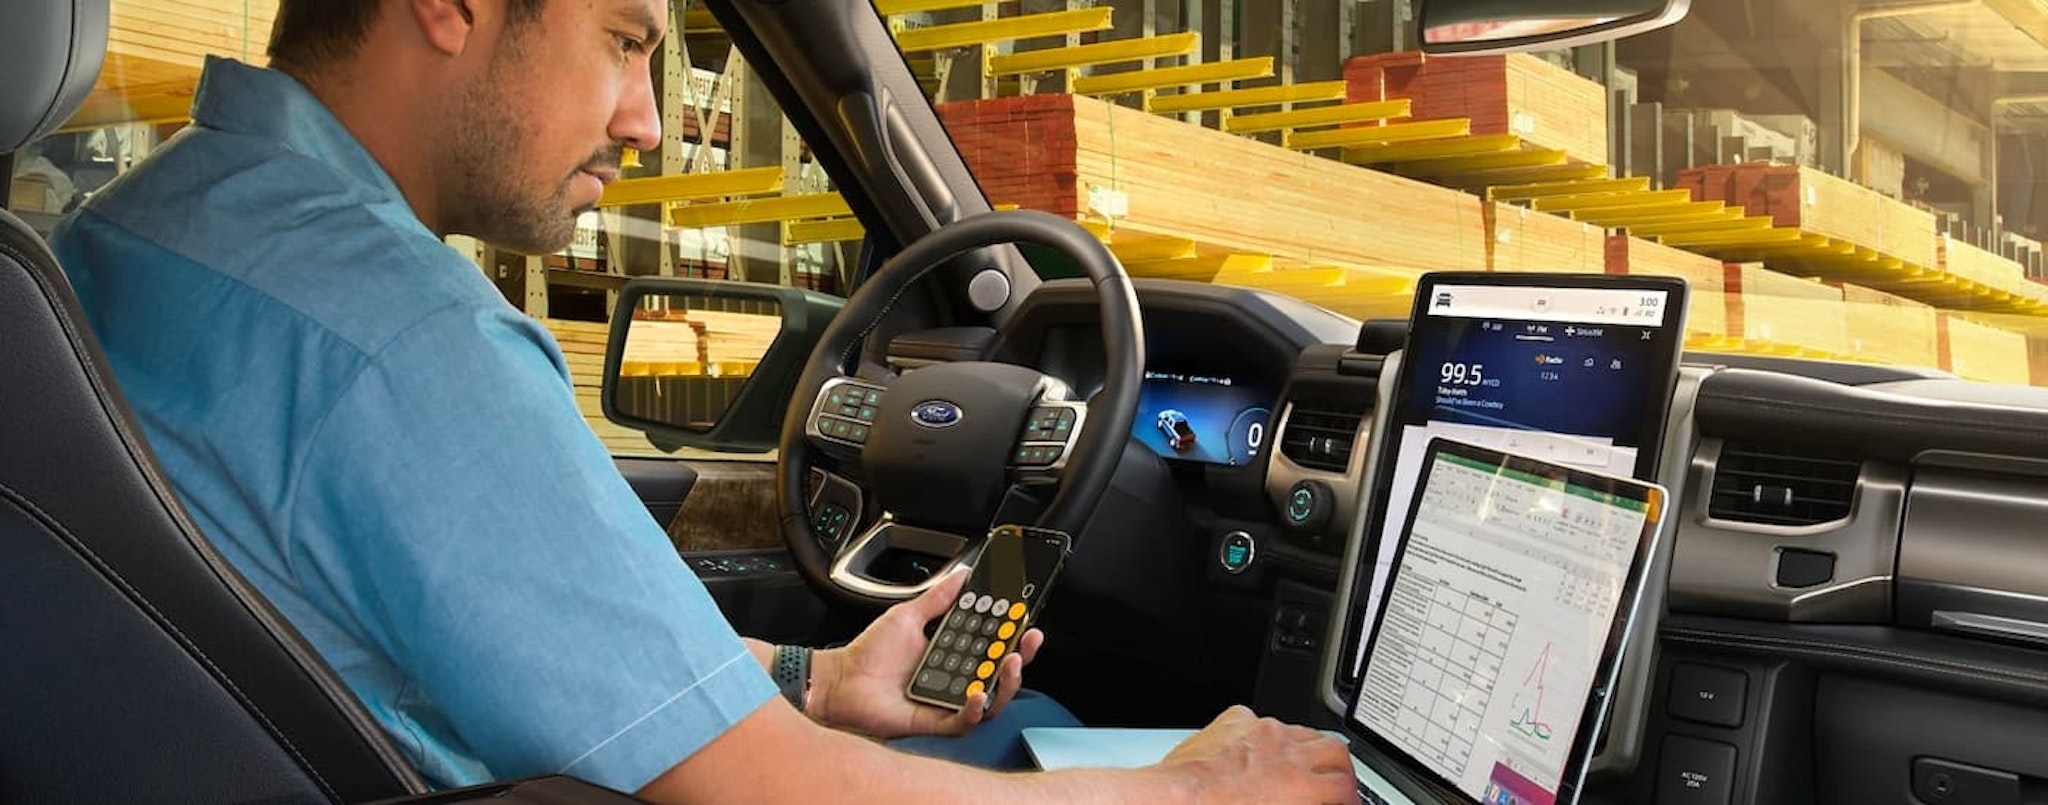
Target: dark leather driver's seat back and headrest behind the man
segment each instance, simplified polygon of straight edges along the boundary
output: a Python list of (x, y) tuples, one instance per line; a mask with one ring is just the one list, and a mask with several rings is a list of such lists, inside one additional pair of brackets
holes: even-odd
[[(0, 156), (92, 88), (106, 14), (106, 0), (0, 0)], [(0, 557), (0, 801), (340, 803), (424, 791), (348, 688), (186, 518), (55, 258), (6, 211)]]

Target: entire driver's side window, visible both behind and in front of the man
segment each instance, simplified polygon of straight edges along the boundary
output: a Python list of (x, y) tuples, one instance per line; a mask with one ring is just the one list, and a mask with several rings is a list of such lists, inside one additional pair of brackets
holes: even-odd
[[(584, 418), (614, 455), (670, 455), (604, 420), (598, 401), (608, 322), (627, 279), (733, 279), (844, 295), (862, 238), (846, 201), (723, 31), (692, 4), (676, 2), (672, 10), (672, 35), (651, 59), (662, 147), (625, 158), (623, 178), (582, 215), (575, 242), (559, 254), (524, 256), (451, 238), (512, 305), (555, 334)], [(100, 80), (68, 125), (18, 154), (10, 209), (47, 236), (188, 123), (207, 57), (266, 66), (274, 14), (276, 0), (115, 0)], [(639, 369), (649, 377), (752, 371), (745, 344), (719, 344), (727, 346), (707, 361), (649, 361)], [(678, 455), (772, 461), (772, 453)]]

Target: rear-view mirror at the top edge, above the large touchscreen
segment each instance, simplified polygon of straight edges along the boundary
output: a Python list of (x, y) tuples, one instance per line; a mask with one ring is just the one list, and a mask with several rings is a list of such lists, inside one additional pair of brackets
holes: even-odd
[(1423, 53), (1591, 45), (1686, 18), (1692, 0), (1419, 0)]

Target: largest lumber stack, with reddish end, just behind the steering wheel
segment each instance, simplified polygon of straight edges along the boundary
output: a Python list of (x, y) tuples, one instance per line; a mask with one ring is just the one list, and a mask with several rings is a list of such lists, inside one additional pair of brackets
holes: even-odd
[(1487, 266), (1481, 201), (1458, 190), (1085, 96), (938, 111), (989, 201), (1106, 223), (1112, 244), (1163, 236), (1280, 266)]

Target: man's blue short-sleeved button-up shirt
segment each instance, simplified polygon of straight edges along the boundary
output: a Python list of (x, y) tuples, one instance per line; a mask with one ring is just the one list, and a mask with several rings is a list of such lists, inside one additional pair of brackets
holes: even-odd
[(285, 74), (55, 236), (186, 510), (438, 785), (633, 791), (774, 696), (555, 342)]

